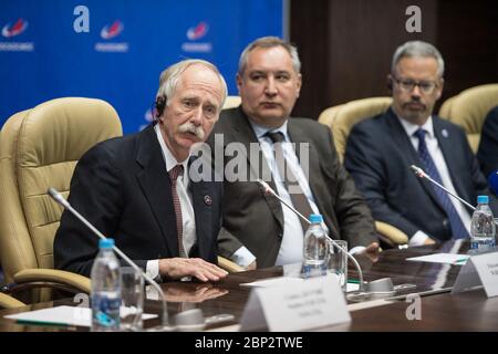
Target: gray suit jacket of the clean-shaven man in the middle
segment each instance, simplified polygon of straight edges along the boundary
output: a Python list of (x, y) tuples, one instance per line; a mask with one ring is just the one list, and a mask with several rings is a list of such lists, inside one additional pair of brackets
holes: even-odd
[[(311, 119), (290, 118), (288, 133), (292, 143), (309, 143), (309, 184), (317, 206), (323, 215), (331, 237), (345, 239), (350, 247), (367, 246), (376, 241), (374, 220), (363, 197), (339, 162), (330, 129)], [(217, 134), (222, 134), (221, 136)], [(242, 144), (249, 152), (250, 143), (259, 142), (240, 107), (221, 113), (208, 139), (212, 152), (224, 152), (229, 143)], [(264, 157), (259, 149), (260, 160)], [(246, 156), (248, 170), (259, 171), (255, 160)], [(225, 157), (224, 166), (229, 157)], [(219, 167), (219, 166), (218, 166)], [(269, 185), (276, 188), (273, 180)], [(280, 201), (264, 195), (255, 181), (224, 181), (222, 218), (229, 233), (218, 238), (221, 256), (230, 257), (240, 247), (247, 247), (256, 257), (258, 268), (272, 267), (277, 260), (283, 235), (283, 212)]]

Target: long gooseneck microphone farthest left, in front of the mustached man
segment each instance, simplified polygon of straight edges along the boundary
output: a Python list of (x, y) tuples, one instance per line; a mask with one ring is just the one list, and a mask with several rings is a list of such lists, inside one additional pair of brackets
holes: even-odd
[[(59, 205), (64, 207), (64, 209), (71, 211), (80, 221), (82, 221), (89, 229), (93, 231), (96, 236), (98, 236), (101, 239), (105, 240), (106, 237), (102, 235), (101, 231), (98, 231), (92, 223), (90, 223), (89, 220), (86, 220), (80, 212), (77, 212), (71, 204), (64, 199), (64, 197), (54, 188), (49, 188), (48, 190), (49, 195), (52, 197), (53, 200), (55, 200)], [(163, 292), (163, 289), (160, 289), (159, 284), (154, 281), (147, 273), (145, 273), (142, 268), (139, 268), (134, 261), (132, 261), (122, 250), (120, 250), (116, 246), (113, 247), (113, 250), (120, 254), (122, 259), (126, 261), (135, 271), (137, 271), (142, 278), (145, 279), (146, 282), (148, 282), (160, 295), (160, 299), (163, 300), (163, 326), (160, 330), (164, 331), (174, 331), (175, 327), (169, 325), (168, 321), (168, 311), (167, 311), (167, 303), (166, 303), (166, 296)]]

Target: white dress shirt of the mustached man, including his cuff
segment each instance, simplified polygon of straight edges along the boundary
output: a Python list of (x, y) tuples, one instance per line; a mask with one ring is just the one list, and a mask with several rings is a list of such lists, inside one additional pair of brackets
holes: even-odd
[[(184, 166), (184, 174), (183, 176), (178, 176), (177, 184), (176, 184), (176, 190), (178, 192), (178, 198), (180, 201), (181, 207), (181, 221), (183, 221), (183, 244), (186, 254), (190, 251), (194, 243), (196, 243), (196, 220), (195, 220), (195, 214), (194, 214), (194, 207), (193, 207), (193, 198), (191, 192), (188, 191), (188, 158), (186, 158), (184, 162), (178, 163), (173, 156), (172, 152), (169, 152), (168, 147), (166, 146), (166, 143), (163, 139), (163, 135), (160, 134), (160, 129), (158, 125), (154, 126), (154, 129), (156, 131), (157, 140), (160, 145), (160, 150), (163, 152), (163, 157), (165, 160), (165, 173), (167, 174), (169, 170), (172, 170), (176, 165), (183, 165)], [(169, 188), (169, 186), (164, 186), (165, 188)], [(166, 200), (165, 200), (166, 202)], [(153, 279), (159, 279), (159, 260), (149, 260), (147, 261), (146, 267), (147, 274)]]

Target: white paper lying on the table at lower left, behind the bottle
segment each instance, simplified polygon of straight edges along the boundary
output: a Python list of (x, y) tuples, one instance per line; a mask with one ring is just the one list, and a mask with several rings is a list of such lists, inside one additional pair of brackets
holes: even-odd
[[(124, 310), (124, 308), (122, 308), (122, 310)], [(79, 306), (55, 306), (50, 309), (21, 312), (7, 315), (4, 317), (40, 324), (63, 324), (90, 327), (92, 322), (92, 310), (89, 308)], [(157, 317), (157, 315), (151, 313), (142, 314), (143, 320), (154, 317)]]

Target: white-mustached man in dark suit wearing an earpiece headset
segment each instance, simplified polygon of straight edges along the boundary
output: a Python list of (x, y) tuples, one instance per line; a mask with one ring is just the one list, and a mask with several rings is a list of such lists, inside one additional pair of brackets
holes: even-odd
[[(217, 281), (226, 275), (214, 264), (222, 186), (194, 181), (188, 173), (190, 148), (211, 132), (226, 94), (212, 64), (174, 64), (160, 75), (156, 122), (97, 144), (77, 163), (69, 201), (152, 278)], [(90, 275), (97, 243), (64, 211), (54, 240), (55, 267)]]

